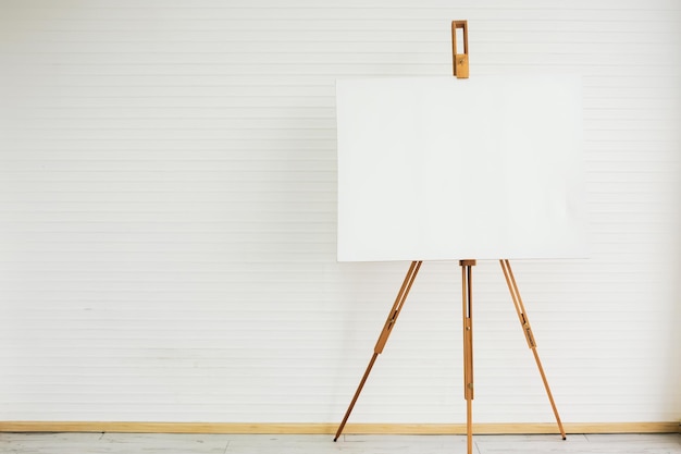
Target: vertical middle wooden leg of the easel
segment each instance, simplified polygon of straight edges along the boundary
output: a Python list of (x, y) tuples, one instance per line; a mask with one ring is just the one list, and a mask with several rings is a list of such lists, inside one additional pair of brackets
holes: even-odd
[(473, 452), (473, 266), (475, 260), (459, 260), (463, 318), (463, 397), (468, 454)]

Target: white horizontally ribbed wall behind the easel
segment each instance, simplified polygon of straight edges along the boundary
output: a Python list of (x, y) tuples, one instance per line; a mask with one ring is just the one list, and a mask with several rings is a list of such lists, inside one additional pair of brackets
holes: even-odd
[[(565, 421), (681, 418), (676, 0), (0, 0), (0, 420), (338, 421), (408, 263), (336, 263), (334, 81), (581, 71), (593, 256), (515, 271)], [(475, 420), (552, 421), (495, 262)], [(461, 422), (428, 262), (354, 422)]]

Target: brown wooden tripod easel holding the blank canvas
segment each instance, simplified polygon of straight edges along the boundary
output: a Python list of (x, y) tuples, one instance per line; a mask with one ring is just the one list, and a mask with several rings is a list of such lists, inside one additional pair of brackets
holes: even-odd
[[(457, 53), (457, 29), (461, 28), (463, 33), (463, 53)], [(469, 76), (469, 60), (468, 60), (468, 23), (467, 21), (453, 21), (451, 22), (451, 44), (453, 44), (453, 66), (454, 66), (454, 75), (457, 78), (468, 78)], [(388, 317), (383, 326), (383, 330), (381, 331), (381, 335), (379, 336), (379, 341), (373, 349), (373, 356), (369, 361), (369, 366), (367, 366), (367, 370), (362, 376), (362, 379), (359, 382), (357, 391), (352, 396), (352, 401), (348, 406), (347, 412), (336, 431), (336, 435), (334, 441), (338, 440), (345, 425), (357, 403), (357, 398), (361, 393), (367, 379), (369, 378), (369, 373), (373, 368), (376, 358), (381, 353), (383, 353), (383, 348), (387, 342), (388, 336), (393, 328), (395, 327), (395, 322), (397, 321), (397, 317), (401, 311), (405, 300), (407, 299), (407, 295), (411, 290), (411, 285), (417, 278), (419, 269), (421, 268), (422, 261), (412, 261), (409, 270), (407, 271), (407, 275), (403, 282), (401, 287), (397, 294), (397, 298), (393, 304), (393, 308), (391, 309)], [(504, 271), (504, 277), (506, 279), (506, 284), (508, 285), (508, 290), (511, 294), (511, 299), (513, 300), (513, 306), (516, 307), (516, 312), (518, 314), (518, 319), (522, 327), (522, 331), (525, 335), (525, 340), (528, 342), (528, 346), (532, 349), (534, 354), (534, 359), (536, 361), (536, 366), (538, 368), (540, 375), (542, 376), (542, 381), (544, 382), (544, 388), (546, 389), (546, 394), (548, 395), (548, 401), (550, 402), (550, 406), (554, 410), (554, 415), (556, 417), (556, 422), (558, 424), (558, 429), (562, 439), (566, 439), (566, 432), (562, 427), (562, 422), (560, 421), (560, 416), (558, 415), (558, 409), (556, 408), (556, 404), (554, 402), (553, 394), (548, 386), (548, 381), (546, 380), (546, 376), (544, 375), (544, 368), (542, 367), (542, 363), (540, 360), (540, 356), (536, 352), (536, 343), (534, 341), (534, 335), (532, 334), (532, 328), (530, 327), (530, 321), (528, 320), (528, 316), (525, 312), (524, 305), (522, 304), (522, 298), (520, 297), (520, 292), (518, 290), (518, 285), (516, 283), (516, 279), (511, 271), (510, 262), (507, 259), (499, 260), (502, 265), (502, 270)], [(472, 454), (473, 452), (473, 421), (472, 421), (472, 404), (473, 404), (473, 291), (472, 291), (472, 278), (473, 278), (473, 267), (475, 266), (475, 260), (459, 260), (459, 266), (461, 267), (461, 302), (462, 302), (462, 320), (463, 320), (463, 397), (466, 398), (466, 433), (467, 433), (467, 449), (468, 454)]]

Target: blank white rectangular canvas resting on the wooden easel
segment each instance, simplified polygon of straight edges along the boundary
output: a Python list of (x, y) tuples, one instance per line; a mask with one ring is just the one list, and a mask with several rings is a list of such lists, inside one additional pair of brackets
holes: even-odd
[(585, 257), (581, 78), (336, 83), (338, 260)]

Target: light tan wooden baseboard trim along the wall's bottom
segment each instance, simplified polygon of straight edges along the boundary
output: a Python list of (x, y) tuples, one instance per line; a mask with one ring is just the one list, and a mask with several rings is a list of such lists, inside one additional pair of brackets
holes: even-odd
[[(568, 433), (677, 433), (674, 422), (567, 422)], [(337, 424), (0, 421), (0, 432), (334, 434)], [(555, 424), (475, 424), (478, 434), (558, 433)], [(465, 424), (348, 424), (345, 434), (465, 434)]]

